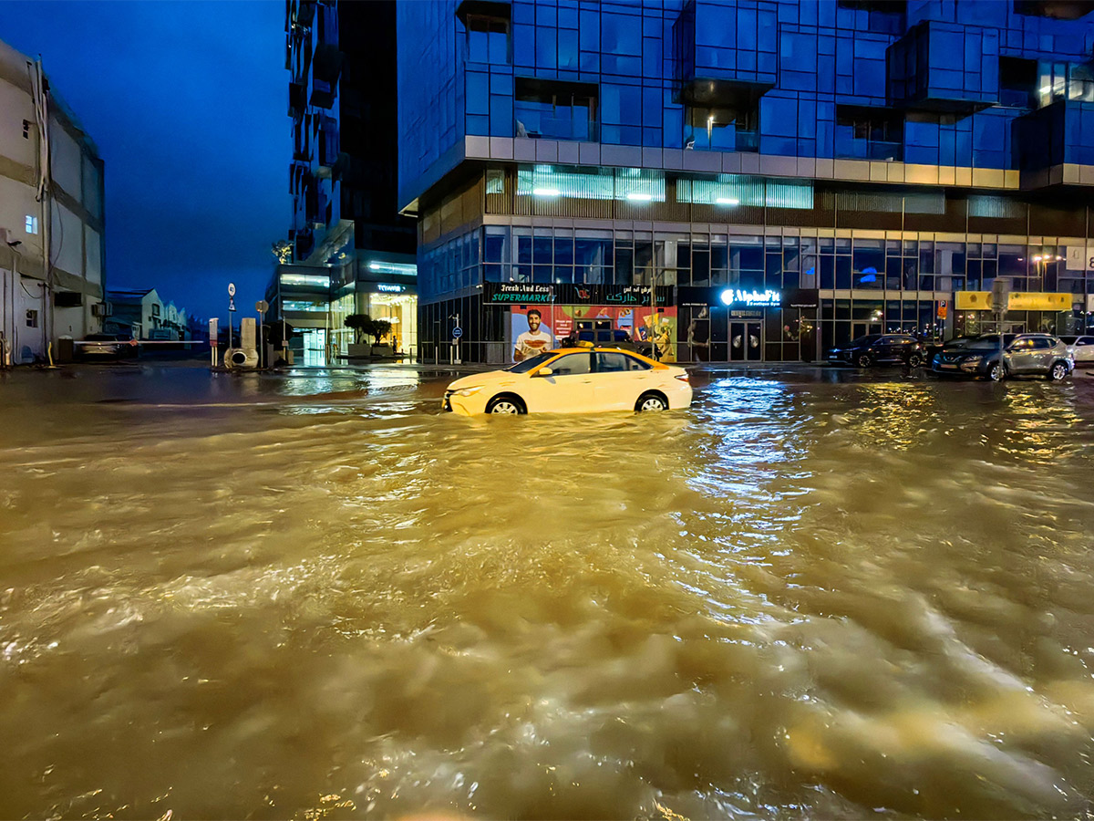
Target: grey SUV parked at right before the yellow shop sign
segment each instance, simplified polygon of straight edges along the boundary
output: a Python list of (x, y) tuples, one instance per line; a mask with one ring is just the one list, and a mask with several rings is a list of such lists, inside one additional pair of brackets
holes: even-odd
[(1074, 367), (1068, 346), (1050, 334), (1003, 334), (1002, 350), (999, 334), (984, 334), (959, 348), (936, 354), (931, 361), (935, 373), (985, 377), (992, 382), (1026, 375), (1058, 382)]

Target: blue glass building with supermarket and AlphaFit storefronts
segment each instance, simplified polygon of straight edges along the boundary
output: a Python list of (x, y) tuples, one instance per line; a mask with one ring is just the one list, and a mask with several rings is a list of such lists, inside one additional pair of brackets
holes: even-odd
[[(1094, 324), (1094, 14), (1015, 0), (399, 3), (421, 355), (532, 303), (679, 361)], [(1010, 280), (1001, 320), (984, 291)]]

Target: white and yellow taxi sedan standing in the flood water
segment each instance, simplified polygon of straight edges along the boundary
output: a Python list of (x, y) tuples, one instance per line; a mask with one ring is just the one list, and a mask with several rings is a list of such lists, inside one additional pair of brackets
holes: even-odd
[(618, 348), (561, 348), (457, 379), (444, 409), (477, 414), (668, 410), (691, 404), (687, 371)]

